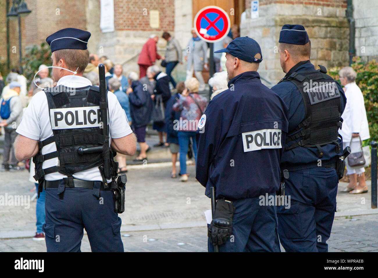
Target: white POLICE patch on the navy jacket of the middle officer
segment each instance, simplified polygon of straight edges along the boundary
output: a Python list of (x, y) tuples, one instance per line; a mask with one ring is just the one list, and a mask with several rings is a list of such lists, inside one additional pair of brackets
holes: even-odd
[(280, 129), (260, 129), (242, 133), (244, 152), (257, 151), (260, 149), (280, 149)]

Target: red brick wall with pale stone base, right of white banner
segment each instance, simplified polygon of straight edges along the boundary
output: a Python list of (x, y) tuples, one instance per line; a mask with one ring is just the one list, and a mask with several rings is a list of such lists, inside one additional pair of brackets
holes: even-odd
[[(150, 27), (150, 10), (159, 11), (159, 28)], [(158, 52), (164, 55), (166, 41), (161, 38), (163, 31), (174, 35), (174, 0), (114, 0), (115, 31), (102, 33), (97, 53), (108, 56), (115, 63), (124, 63), (123, 69), (139, 72), (138, 54), (151, 34), (160, 39)]]

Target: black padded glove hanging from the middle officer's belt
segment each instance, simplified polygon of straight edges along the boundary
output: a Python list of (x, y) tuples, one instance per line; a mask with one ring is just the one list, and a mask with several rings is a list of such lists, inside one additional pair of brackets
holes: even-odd
[(208, 237), (213, 245), (223, 245), (232, 235), (232, 216), (235, 208), (231, 201), (217, 200), (214, 219), (208, 229)]

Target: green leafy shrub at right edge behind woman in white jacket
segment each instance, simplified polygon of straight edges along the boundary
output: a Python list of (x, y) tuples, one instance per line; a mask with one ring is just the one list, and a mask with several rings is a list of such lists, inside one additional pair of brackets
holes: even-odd
[[(364, 96), (370, 131), (370, 139), (368, 141), (378, 141), (378, 63), (375, 60), (362, 62), (360, 57), (354, 57), (351, 67), (357, 73), (356, 84)], [(328, 72), (339, 83), (340, 69), (341, 67), (334, 67)], [(365, 142), (365, 144), (367, 143)]]

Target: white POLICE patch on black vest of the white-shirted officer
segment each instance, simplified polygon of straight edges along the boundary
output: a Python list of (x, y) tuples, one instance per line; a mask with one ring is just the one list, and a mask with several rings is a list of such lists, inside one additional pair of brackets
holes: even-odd
[(100, 107), (71, 107), (50, 109), (52, 129), (99, 127)]

